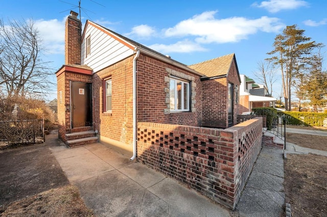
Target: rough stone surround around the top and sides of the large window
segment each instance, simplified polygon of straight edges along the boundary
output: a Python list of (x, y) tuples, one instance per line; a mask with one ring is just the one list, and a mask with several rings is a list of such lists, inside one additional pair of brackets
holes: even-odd
[(170, 114), (170, 75), (176, 76), (176, 77), (179, 77), (179, 78), (182, 78), (185, 80), (190, 80), (190, 82), (191, 82), (191, 111), (196, 112), (196, 108), (195, 108), (196, 83), (194, 82), (195, 77), (184, 74), (182, 72), (178, 72), (178, 71), (170, 69), (170, 68), (166, 68), (166, 72), (168, 73), (168, 76), (165, 76), (165, 82), (167, 83), (167, 87), (165, 88), (165, 93), (166, 93), (165, 102), (166, 102), (167, 108), (165, 108), (164, 114), (165, 115)]

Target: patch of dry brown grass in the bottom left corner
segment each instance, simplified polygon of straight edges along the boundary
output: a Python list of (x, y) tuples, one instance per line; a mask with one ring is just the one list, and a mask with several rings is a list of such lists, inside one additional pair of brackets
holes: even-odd
[(94, 216), (72, 185), (54, 188), (33, 197), (14, 202), (1, 216)]

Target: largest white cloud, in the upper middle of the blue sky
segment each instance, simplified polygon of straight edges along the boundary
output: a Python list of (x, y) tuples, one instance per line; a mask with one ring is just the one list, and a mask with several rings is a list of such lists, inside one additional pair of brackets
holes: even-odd
[(173, 28), (166, 30), (165, 36), (195, 36), (198, 43), (227, 43), (246, 39), (258, 31), (277, 33), (285, 27), (285, 24), (274, 17), (216, 19), (214, 17), (216, 13), (217, 11), (207, 11), (183, 20)]

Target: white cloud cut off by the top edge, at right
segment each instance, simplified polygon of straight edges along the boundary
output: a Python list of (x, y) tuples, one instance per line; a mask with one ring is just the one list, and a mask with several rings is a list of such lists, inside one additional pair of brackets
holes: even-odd
[(292, 10), (302, 6), (308, 6), (308, 3), (302, 0), (269, 0), (263, 1), (260, 4), (253, 3), (252, 6), (264, 8), (271, 13), (276, 13), (282, 10)]

